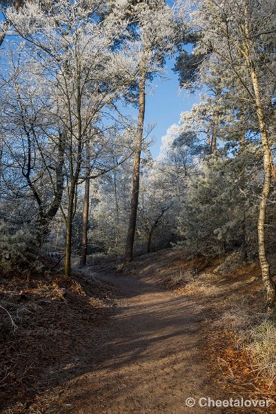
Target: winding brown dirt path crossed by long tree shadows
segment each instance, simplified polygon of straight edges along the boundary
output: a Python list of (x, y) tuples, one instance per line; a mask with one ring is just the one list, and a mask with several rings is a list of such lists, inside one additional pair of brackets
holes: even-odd
[[(86, 373), (68, 386), (62, 412), (198, 413), (200, 397), (219, 399), (202, 352), (208, 346), (201, 335), (206, 308), (161, 290), (149, 278), (99, 277), (112, 282), (124, 299), (101, 331), (99, 348), (88, 350)], [(193, 408), (186, 406), (188, 397), (197, 401)], [(233, 413), (233, 408), (215, 411)]]

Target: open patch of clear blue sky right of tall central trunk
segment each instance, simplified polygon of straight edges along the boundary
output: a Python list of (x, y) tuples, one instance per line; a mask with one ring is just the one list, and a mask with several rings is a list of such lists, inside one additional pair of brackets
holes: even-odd
[(175, 59), (168, 60), (166, 64), (166, 78), (155, 77), (156, 85), (152, 94), (146, 97), (145, 128), (149, 123), (156, 123), (152, 136), (155, 144), (150, 147), (153, 157), (157, 157), (161, 146), (161, 137), (166, 135), (166, 130), (172, 124), (179, 122), (179, 115), (185, 110), (190, 110), (193, 103), (199, 101), (197, 94), (190, 95), (186, 91), (179, 92), (178, 75), (172, 72)]

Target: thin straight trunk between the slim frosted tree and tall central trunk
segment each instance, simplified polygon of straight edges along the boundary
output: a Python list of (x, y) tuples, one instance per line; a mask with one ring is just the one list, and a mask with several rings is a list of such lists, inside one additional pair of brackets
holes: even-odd
[(86, 181), (85, 181), (85, 188), (84, 188), (83, 214), (82, 214), (81, 259), (79, 261), (80, 266), (86, 266), (86, 259), (87, 259), (89, 193), (90, 193), (90, 143), (89, 141), (87, 141), (86, 142)]

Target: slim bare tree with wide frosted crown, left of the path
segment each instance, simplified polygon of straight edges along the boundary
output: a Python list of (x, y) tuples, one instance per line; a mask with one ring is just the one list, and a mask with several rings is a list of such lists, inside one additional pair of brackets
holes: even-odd
[[(67, 194), (59, 208), (66, 222), (64, 273), (68, 277), (83, 148), (95, 138), (92, 126), (101, 119), (103, 108), (123, 95), (134, 79), (132, 60), (113, 47), (126, 23), (99, 19), (95, 1), (26, 1), (20, 12), (10, 9), (7, 14), (27, 40), (29, 59), (43, 68), (41, 83), (51, 92), (48, 116), (57, 119), (65, 137)], [(43, 152), (41, 157), (52, 177)]]

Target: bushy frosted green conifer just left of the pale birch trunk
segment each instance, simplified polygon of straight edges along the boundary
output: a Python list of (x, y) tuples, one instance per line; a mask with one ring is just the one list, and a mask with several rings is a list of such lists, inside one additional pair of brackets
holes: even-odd
[(232, 157), (219, 150), (202, 161), (189, 179), (179, 219), (182, 246), (206, 257), (238, 251), (244, 259), (255, 259), (260, 179), (253, 144), (235, 150)]

